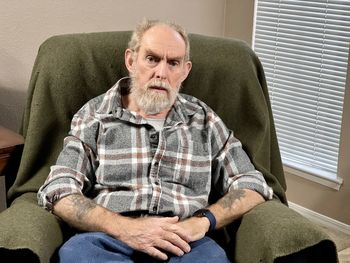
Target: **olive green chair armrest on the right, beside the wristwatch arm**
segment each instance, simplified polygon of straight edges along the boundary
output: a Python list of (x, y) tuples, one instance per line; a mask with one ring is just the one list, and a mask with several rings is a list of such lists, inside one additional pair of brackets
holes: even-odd
[(236, 231), (232, 240), (235, 262), (274, 262), (321, 243), (324, 250), (321, 252), (331, 258), (329, 262), (337, 262), (336, 246), (330, 237), (278, 201), (255, 207), (244, 215)]

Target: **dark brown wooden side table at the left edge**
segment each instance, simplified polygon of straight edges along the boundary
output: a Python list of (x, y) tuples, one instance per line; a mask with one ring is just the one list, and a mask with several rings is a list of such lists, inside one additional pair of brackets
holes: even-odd
[[(0, 126), (0, 212), (6, 209), (6, 182), (13, 181), (13, 171), (18, 165), (23, 149), (24, 139), (18, 133)], [(12, 171), (12, 172), (11, 172)]]

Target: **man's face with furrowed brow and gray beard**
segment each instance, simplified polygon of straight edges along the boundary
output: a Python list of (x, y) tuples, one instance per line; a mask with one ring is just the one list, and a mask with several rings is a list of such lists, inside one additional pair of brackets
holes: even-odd
[(145, 32), (137, 53), (126, 52), (132, 79), (130, 97), (147, 114), (167, 111), (174, 104), (191, 69), (191, 62), (185, 61), (185, 52), (180, 34), (161, 25)]

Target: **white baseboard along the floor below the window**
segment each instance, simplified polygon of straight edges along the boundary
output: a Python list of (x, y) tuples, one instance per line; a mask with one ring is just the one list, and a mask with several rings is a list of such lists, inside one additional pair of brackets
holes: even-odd
[(315, 211), (312, 211), (310, 209), (307, 209), (305, 207), (302, 207), (300, 205), (297, 205), (295, 203), (289, 202), (289, 207), (298, 212), (299, 214), (305, 216), (310, 221), (315, 222), (319, 225), (332, 228), (338, 231), (341, 231), (347, 235), (350, 235), (350, 225), (344, 224), (340, 221), (337, 221), (333, 218), (330, 218), (328, 216), (319, 214)]

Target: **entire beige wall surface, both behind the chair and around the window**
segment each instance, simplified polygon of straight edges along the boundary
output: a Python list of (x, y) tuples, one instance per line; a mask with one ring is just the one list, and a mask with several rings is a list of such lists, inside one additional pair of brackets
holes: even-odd
[[(51, 35), (132, 29), (147, 14), (176, 20), (189, 32), (252, 41), (254, 0), (0, 1), (0, 125), (15, 130), (37, 49)], [(339, 174), (344, 179), (340, 191), (286, 175), (291, 202), (346, 224), (350, 224), (349, 87), (350, 80), (340, 147)]]

